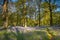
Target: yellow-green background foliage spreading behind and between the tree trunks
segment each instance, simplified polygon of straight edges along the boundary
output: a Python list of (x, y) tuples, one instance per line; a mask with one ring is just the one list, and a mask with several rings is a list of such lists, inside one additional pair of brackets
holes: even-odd
[[(46, 1), (39, 0), (18, 0), (15, 3), (11, 3), (11, 5), (15, 5), (16, 12), (10, 12), (9, 14), (9, 25), (14, 26), (38, 26), (39, 21), (40, 25), (50, 25), (50, 10), (49, 3)], [(37, 5), (39, 4), (39, 5)], [(10, 4), (9, 4), (10, 5)], [(54, 12), (57, 7), (56, 4), (50, 3), (52, 9), (52, 17), (53, 17), (53, 25), (60, 24), (60, 13)], [(11, 6), (12, 7), (12, 6)], [(8, 8), (9, 9), (9, 8)], [(39, 10), (40, 9), (40, 10)], [(10, 10), (10, 9), (9, 9)], [(12, 10), (14, 11), (14, 10)], [(1, 14), (0, 14), (1, 15)], [(57, 19), (57, 20), (56, 20)], [(3, 18), (0, 16), (0, 25), (3, 25)]]

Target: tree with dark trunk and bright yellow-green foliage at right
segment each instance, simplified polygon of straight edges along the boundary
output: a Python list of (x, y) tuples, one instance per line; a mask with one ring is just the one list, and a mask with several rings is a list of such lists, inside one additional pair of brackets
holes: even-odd
[[(52, 23), (52, 12), (54, 12), (54, 10), (56, 9), (56, 5), (52, 4), (50, 2), (48, 2), (47, 0), (45, 0), (42, 4), (41, 4), (41, 8), (43, 16), (41, 18), (41, 23), (45, 24), (45, 25), (53, 25)], [(51, 8), (50, 8), (51, 7)]]

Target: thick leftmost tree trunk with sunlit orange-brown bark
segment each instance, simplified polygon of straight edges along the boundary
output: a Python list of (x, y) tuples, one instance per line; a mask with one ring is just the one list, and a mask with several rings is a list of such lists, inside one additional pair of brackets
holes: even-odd
[(4, 0), (3, 2), (3, 26), (4, 28), (7, 28), (8, 27), (8, 0)]

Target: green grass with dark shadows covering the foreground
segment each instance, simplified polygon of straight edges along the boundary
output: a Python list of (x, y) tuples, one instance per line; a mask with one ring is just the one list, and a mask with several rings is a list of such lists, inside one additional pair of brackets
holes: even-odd
[[(45, 29), (44, 29), (45, 30)], [(60, 32), (56, 30), (51, 30), (50, 32), (55, 35), (53, 40), (60, 40)], [(0, 31), (0, 40), (50, 40), (49, 35), (45, 31), (33, 31), (33, 32), (20, 32), (16, 29), (15, 32), (7, 32), (7, 30)]]

